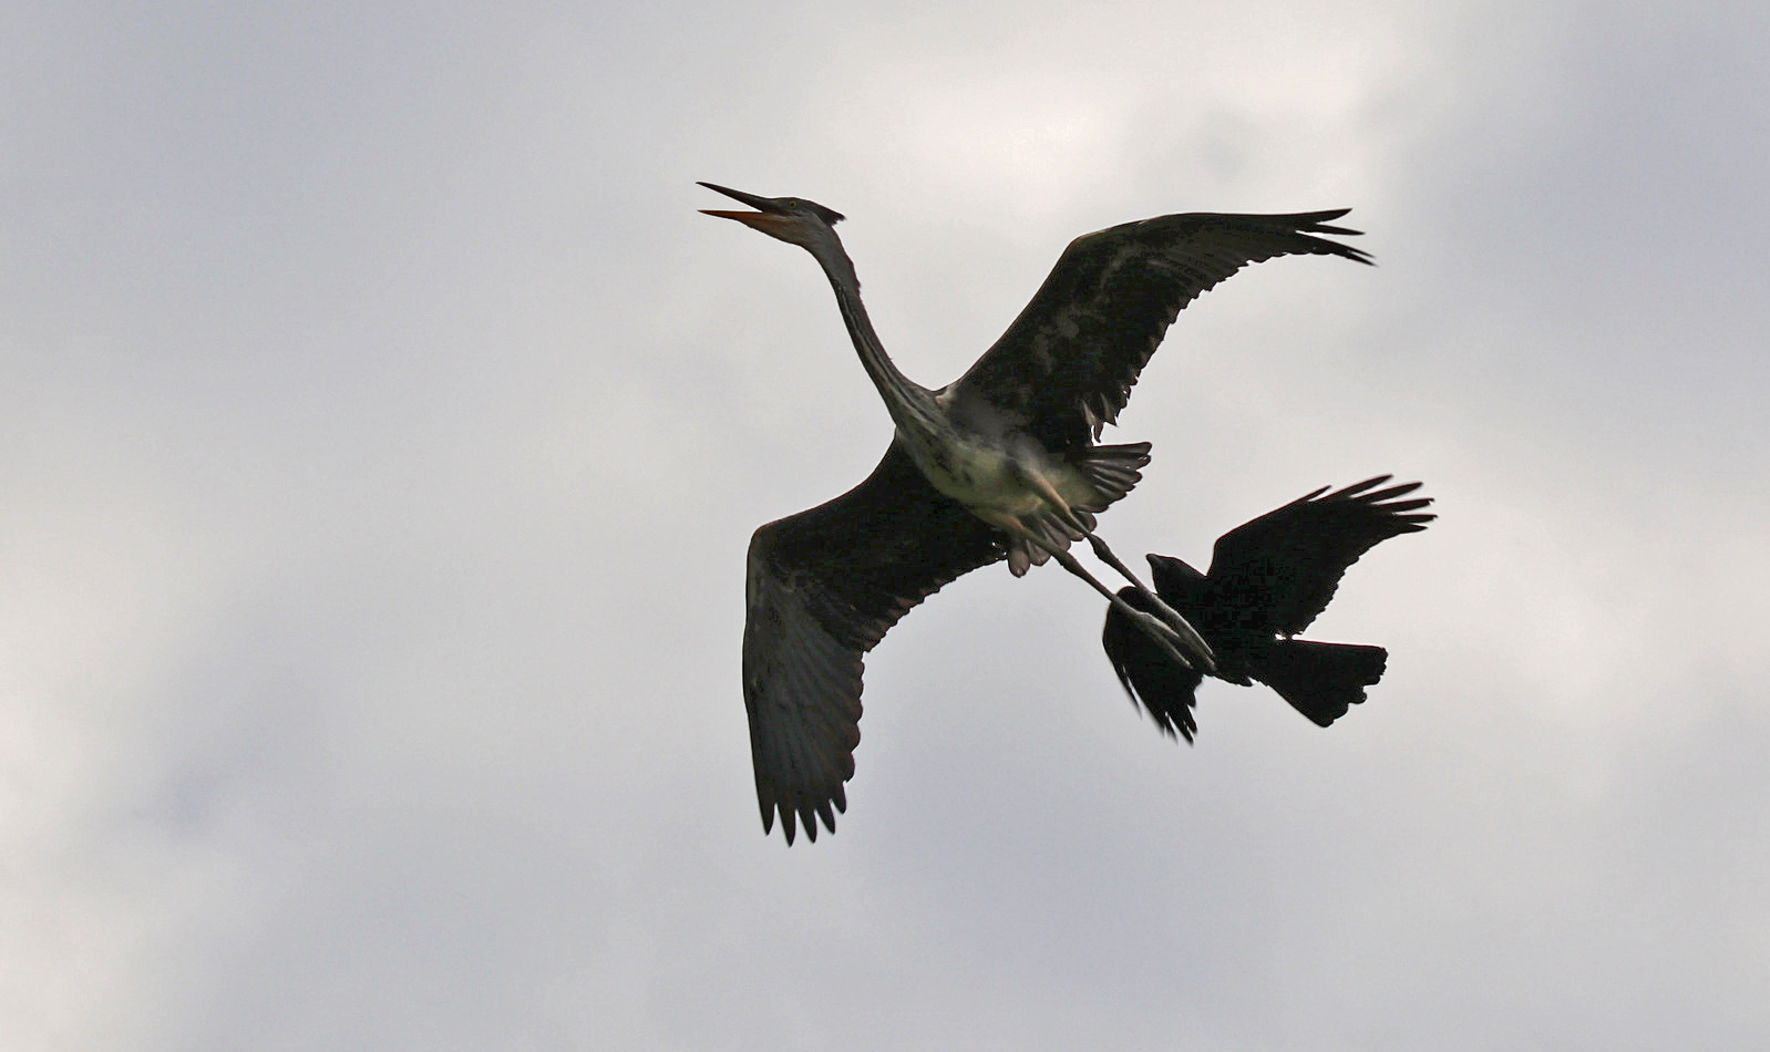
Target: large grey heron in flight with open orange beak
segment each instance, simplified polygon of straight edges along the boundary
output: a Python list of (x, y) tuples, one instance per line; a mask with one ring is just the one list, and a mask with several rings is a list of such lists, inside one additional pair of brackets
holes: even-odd
[[(745, 574), (743, 703), (763, 831), (779, 811), (811, 839), (848, 809), (860, 742), (862, 655), (912, 606), (977, 567), (1018, 577), (1057, 560), (1112, 602), (1165, 659), (1211, 669), (1211, 646), (1094, 533), (1149, 464), (1149, 443), (1097, 445), (1175, 315), (1250, 262), (1370, 257), (1319, 234), (1349, 209), (1285, 216), (1179, 214), (1069, 243), (1014, 324), (958, 381), (924, 388), (885, 354), (835, 236), (843, 216), (795, 197), (701, 186), (754, 211), (712, 211), (809, 251), (896, 434), (873, 475), (816, 508), (759, 528)], [(1127, 581), (1138, 606), (1069, 553), (1076, 540)]]

